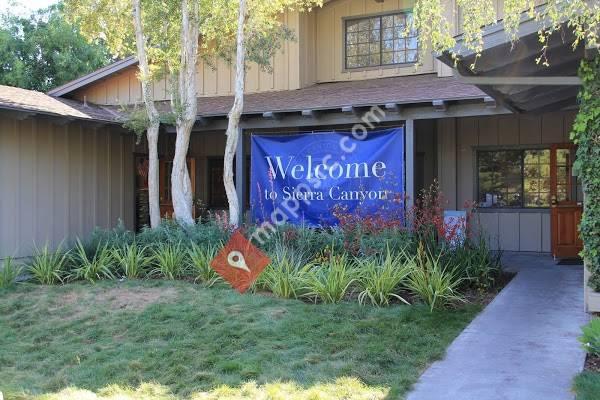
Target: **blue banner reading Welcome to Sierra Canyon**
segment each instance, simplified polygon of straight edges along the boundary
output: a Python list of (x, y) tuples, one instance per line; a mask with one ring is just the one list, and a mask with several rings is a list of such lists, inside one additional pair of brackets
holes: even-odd
[(399, 218), (404, 130), (253, 135), (250, 201), (258, 223), (330, 226), (345, 214)]

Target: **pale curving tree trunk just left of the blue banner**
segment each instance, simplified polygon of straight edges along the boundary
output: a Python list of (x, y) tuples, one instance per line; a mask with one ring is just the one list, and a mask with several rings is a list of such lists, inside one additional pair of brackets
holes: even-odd
[[(240, 138), (239, 125), (242, 111), (244, 110), (244, 75), (246, 72), (246, 46), (244, 29), (246, 25), (246, 0), (240, 0), (238, 14), (238, 30), (235, 60), (235, 99), (229, 111), (229, 122), (227, 124), (227, 141), (225, 143), (225, 154), (223, 157), (223, 183), (229, 203), (229, 224), (238, 227), (241, 223), (240, 202), (233, 181), (233, 159)], [(242, 160), (238, 160), (242, 162)]]

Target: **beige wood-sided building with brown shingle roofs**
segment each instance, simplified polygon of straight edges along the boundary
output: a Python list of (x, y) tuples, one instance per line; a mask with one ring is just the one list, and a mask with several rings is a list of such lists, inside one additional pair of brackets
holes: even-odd
[[(502, 2), (496, 5), (502, 19)], [(448, 15), (454, 9), (449, 0)], [(571, 173), (569, 131), (583, 48), (573, 51), (568, 40), (557, 39), (548, 51), (552, 66), (544, 70), (534, 62), (539, 22), (524, 17), (513, 51), (501, 23), (489, 30), (481, 72), (469, 76), (463, 65), (446, 65), (452, 65), (446, 55), (427, 56), (415, 69), (418, 41), (398, 34), (410, 18), (403, 0), (333, 0), (282, 18), (298, 40), (274, 57), (271, 73), (251, 66), (247, 74), (244, 140), (236, 156), (242, 204), (248, 204), (250, 134), (347, 129), (379, 106), (381, 127), (405, 127), (410, 198), (437, 179), (448, 209), (479, 204), (493, 247), (577, 254), (582, 196)], [(136, 68), (127, 58), (48, 94), (0, 87), (0, 258), (27, 256), (34, 243), (56, 246), (118, 219), (131, 229), (146, 222), (145, 145), (118, 118), (121, 105), (141, 100)], [(225, 206), (222, 158), (233, 79), (224, 62), (216, 69), (198, 65), (189, 166), (196, 199), (210, 208)], [(167, 80), (154, 82), (153, 90), (168, 104)], [(174, 139), (164, 128), (166, 215)]]

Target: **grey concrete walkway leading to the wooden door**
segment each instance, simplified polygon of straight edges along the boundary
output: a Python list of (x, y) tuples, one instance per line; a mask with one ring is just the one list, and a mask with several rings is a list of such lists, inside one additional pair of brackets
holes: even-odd
[(517, 276), (421, 376), (408, 400), (567, 400), (585, 354), (582, 266), (507, 254)]

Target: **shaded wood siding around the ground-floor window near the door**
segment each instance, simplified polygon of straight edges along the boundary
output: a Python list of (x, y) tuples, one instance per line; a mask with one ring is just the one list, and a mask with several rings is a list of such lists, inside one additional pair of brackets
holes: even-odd
[[(476, 199), (475, 150), (481, 146), (568, 143), (574, 112), (441, 119), (437, 125), (438, 180), (447, 208)], [(549, 209), (482, 210), (481, 227), (494, 248), (550, 251)]]

